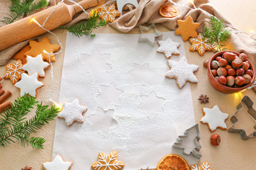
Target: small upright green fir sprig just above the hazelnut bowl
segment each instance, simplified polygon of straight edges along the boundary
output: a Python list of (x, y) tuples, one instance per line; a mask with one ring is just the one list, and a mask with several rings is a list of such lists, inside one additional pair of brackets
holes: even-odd
[(217, 47), (217, 51), (224, 50), (226, 41), (230, 38), (230, 31), (225, 29), (225, 25), (222, 20), (212, 16), (210, 18), (210, 27), (205, 26), (203, 36), (208, 39), (208, 42), (213, 47)]

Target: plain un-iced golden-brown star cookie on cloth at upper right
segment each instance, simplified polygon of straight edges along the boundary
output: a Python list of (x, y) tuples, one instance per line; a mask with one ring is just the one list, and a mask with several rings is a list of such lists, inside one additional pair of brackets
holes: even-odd
[(193, 18), (188, 16), (184, 21), (177, 21), (178, 28), (174, 32), (176, 35), (181, 35), (182, 40), (186, 41), (190, 37), (196, 37), (196, 29), (200, 26), (200, 23), (194, 23)]

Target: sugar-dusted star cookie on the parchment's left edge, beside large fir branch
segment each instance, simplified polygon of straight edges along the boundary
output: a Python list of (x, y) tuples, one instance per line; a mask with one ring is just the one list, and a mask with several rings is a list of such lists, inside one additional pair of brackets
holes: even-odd
[(87, 111), (86, 106), (80, 106), (78, 98), (73, 100), (71, 103), (65, 103), (63, 106), (63, 111), (58, 114), (58, 118), (64, 118), (65, 123), (70, 126), (75, 121), (78, 123), (83, 123), (84, 118), (83, 113)]

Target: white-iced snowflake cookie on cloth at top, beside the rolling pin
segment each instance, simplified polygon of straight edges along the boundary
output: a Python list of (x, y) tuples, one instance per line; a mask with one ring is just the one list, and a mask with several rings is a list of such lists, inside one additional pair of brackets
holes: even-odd
[(119, 15), (121, 15), (121, 13), (115, 10), (114, 4), (112, 4), (111, 6), (103, 5), (99, 12), (100, 18), (102, 18), (105, 22), (107, 21), (113, 22), (115, 21), (115, 18)]

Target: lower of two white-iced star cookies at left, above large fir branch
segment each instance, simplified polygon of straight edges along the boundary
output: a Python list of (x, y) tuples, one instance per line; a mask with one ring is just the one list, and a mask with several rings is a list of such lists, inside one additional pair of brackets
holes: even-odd
[(29, 94), (36, 98), (36, 90), (44, 85), (41, 81), (38, 81), (38, 73), (34, 73), (31, 76), (22, 73), (21, 81), (18, 81), (14, 86), (21, 90), (21, 97), (24, 96), (24, 94)]

